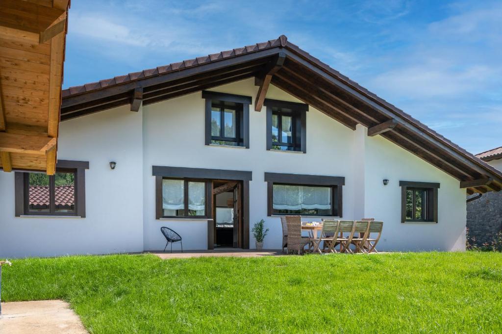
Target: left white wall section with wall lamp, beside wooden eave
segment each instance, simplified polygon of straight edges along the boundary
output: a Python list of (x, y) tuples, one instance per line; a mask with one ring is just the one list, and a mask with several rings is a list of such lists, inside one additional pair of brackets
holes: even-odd
[(14, 172), (0, 173), (0, 257), (142, 251), (141, 111), (123, 106), (62, 122), (59, 131), (58, 159), (89, 161), (86, 217), (15, 217)]

